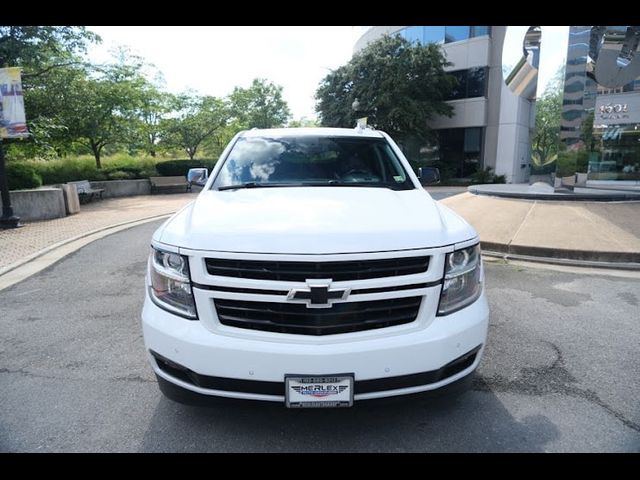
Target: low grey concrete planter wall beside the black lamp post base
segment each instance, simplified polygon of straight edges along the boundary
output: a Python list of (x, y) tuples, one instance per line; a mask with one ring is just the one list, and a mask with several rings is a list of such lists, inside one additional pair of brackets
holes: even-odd
[(20, 220), (48, 220), (66, 216), (61, 188), (12, 190), (9, 194), (13, 212)]

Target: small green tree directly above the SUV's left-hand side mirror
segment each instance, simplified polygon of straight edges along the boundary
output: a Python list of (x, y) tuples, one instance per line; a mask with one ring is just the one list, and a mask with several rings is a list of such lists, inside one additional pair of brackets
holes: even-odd
[(192, 93), (176, 99), (177, 117), (163, 122), (166, 145), (180, 147), (193, 160), (200, 148), (229, 121), (229, 108), (219, 98), (200, 97)]

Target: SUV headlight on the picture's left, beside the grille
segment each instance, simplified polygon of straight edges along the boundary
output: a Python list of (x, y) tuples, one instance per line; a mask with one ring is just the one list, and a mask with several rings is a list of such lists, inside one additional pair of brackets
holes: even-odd
[(151, 247), (149, 279), (149, 295), (156, 305), (183, 317), (198, 318), (187, 257)]

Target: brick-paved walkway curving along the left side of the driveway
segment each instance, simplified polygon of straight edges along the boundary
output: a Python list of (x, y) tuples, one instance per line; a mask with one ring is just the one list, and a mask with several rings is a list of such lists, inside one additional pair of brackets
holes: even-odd
[(197, 193), (110, 198), (81, 205), (80, 213), (54, 220), (24, 222), (21, 228), (0, 230), (0, 271), (29, 255), (114, 224), (173, 213)]

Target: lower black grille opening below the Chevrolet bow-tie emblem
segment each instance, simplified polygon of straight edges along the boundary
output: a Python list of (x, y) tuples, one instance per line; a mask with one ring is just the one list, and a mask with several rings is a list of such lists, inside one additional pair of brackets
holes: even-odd
[(299, 303), (215, 299), (218, 319), (231, 327), (302, 335), (330, 335), (413, 322), (422, 297), (334, 303), (307, 308)]

